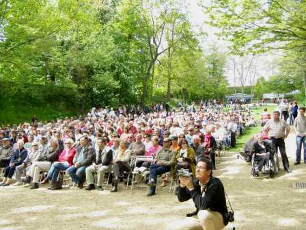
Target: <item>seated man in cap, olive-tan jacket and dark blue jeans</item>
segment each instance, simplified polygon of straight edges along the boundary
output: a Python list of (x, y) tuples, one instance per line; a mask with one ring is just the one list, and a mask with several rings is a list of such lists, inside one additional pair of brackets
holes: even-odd
[(163, 149), (158, 151), (154, 158), (154, 164), (150, 166), (150, 181), (148, 183), (150, 190), (147, 196), (155, 195), (157, 176), (169, 172), (171, 166), (176, 164), (176, 152), (170, 149), (170, 145), (170, 138), (165, 138), (163, 140)]

